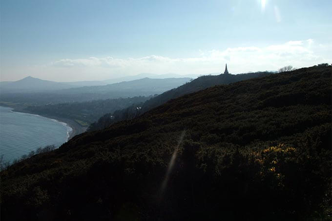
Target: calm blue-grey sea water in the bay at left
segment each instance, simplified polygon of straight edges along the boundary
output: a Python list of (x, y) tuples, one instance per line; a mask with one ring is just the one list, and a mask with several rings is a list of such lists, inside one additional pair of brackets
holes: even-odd
[(39, 115), (13, 112), (0, 106), (0, 155), (12, 161), (46, 145), (66, 142), (71, 128), (63, 122)]

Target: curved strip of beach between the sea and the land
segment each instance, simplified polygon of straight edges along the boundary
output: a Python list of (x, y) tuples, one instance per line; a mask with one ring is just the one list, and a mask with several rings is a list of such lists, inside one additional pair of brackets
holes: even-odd
[[(11, 106), (5, 106), (5, 105), (1, 105), (3, 107), (10, 107), (13, 108)], [(57, 116), (51, 116), (51, 115), (47, 115), (47, 114), (36, 114), (36, 113), (32, 113), (26, 110), (23, 110), (21, 108), (13, 108), (12, 111), (14, 112), (21, 112), (21, 113), (28, 113), (28, 114), (34, 114), (34, 115), (38, 115), (44, 118), (48, 118), (50, 120), (54, 120), (54, 121), (58, 121), (59, 123), (64, 123), (66, 125), (64, 126), (68, 126), (71, 128), (71, 132), (69, 132), (69, 137), (68, 140), (72, 139), (73, 137), (75, 137), (76, 135), (82, 134), (86, 131), (87, 127), (83, 127), (80, 124), (78, 124), (77, 122), (75, 122), (74, 120), (68, 119), (68, 118), (62, 118), (62, 117), (57, 117)]]

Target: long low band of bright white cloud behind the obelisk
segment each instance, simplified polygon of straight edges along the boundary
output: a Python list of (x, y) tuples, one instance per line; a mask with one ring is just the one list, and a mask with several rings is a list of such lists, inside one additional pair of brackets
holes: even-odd
[(123, 76), (142, 72), (156, 74), (221, 73), (225, 63), (228, 63), (228, 69), (231, 73), (245, 73), (259, 70), (277, 70), (285, 65), (303, 67), (328, 62), (331, 56), (329, 58), (324, 57), (320, 54), (319, 48), (321, 48), (319, 44), (315, 45), (312, 39), (292, 40), (265, 47), (247, 46), (225, 50), (199, 50), (200, 56), (193, 58), (168, 58), (158, 55), (128, 59), (91, 57), (88, 59), (62, 59), (53, 62), (52, 65), (63, 68), (84, 66), (91, 69), (91, 71), (93, 69), (100, 72), (107, 70), (110, 75)]

